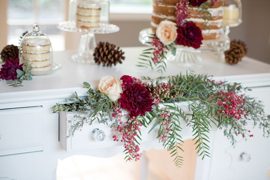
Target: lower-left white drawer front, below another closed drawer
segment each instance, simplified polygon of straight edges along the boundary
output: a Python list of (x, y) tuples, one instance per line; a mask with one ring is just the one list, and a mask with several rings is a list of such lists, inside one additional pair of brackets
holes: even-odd
[(9, 177), (17, 180), (43, 179), (43, 154), (30, 152), (0, 156), (0, 179)]

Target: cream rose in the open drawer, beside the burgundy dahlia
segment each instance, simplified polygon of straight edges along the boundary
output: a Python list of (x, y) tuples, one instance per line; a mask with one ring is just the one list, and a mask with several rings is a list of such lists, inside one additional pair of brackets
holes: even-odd
[(103, 94), (108, 95), (111, 101), (120, 99), (120, 93), (123, 93), (122, 85), (120, 84), (119, 80), (113, 76), (101, 77), (98, 90), (100, 90)]

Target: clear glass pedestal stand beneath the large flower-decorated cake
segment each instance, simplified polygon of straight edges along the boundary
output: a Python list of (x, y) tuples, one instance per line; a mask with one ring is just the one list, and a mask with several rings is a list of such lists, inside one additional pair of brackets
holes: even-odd
[[(140, 31), (139, 41), (147, 46), (152, 46), (151, 41), (153, 32), (151, 28), (146, 28)], [(168, 52), (166, 55), (167, 61), (176, 66), (196, 66), (202, 61), (198, 53), (201, 52), (221, 52), (230, 48), (230, 39), (227, 35), (221, 35), (215, 40), (203, 40), (201, 47), (194, 49), (183, 45), (176, 45), (176, 55)]]

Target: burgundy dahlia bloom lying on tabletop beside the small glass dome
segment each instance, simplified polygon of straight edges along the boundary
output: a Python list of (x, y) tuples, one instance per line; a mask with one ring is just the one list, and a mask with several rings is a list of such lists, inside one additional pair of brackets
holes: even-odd
[(12, 79), (13, 81), (17, 77), (16, 70), (22, 70), (22, 65), (19, 65), (19, 58), (16, 58), (15, 60), (11, 58), (10, 60), (7, 60), (5, 64), (2, 65), (2, 68), (0, 69), (0, 79), (9, 80)]

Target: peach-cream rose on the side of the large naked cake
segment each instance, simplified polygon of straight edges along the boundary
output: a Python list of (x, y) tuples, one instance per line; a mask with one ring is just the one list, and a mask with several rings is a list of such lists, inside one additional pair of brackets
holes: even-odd
[(156, 36), (164, 45), (172, 44), (177, 38), (177, 25), (172, 21), (161, 21), (156, 30)]

